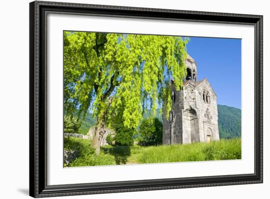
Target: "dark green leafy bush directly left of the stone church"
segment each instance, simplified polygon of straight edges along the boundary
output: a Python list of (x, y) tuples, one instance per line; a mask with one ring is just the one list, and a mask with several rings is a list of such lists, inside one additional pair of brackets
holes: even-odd
[(144, 119), (139, 128), (141, 145), (162, 144), (162, 122), (157, 118)]

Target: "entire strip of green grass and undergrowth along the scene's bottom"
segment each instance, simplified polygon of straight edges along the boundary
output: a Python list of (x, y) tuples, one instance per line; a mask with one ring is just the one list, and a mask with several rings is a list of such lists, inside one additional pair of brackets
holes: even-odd
[(65, 149), (75, 149), (80, 155), (69, 166), (113, 164), (143, 164), (205, 160), (241, 159), (241, 139), (212, 141), (170, 146), (104, 146), (100, 155), (89, 147), (89, 140), (65, 138)]

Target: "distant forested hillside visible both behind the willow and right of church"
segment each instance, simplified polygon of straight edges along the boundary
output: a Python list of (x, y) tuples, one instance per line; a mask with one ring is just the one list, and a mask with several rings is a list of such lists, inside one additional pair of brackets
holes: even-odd
[[(223, 139), (241, 137), (241, 110), (234, 107), (217, 105), (218, 110), (218, 130), (219, 136)], [(145, 110), (143, 118), (148, 118), (150, 110)], [(157, 117), (162, 121), (162, 114), (157, 110)], [(81, 123), (81, 133), (86, 134), (88, 130), (95, 126), (96, 118), (91, 113), (87, 113)]]

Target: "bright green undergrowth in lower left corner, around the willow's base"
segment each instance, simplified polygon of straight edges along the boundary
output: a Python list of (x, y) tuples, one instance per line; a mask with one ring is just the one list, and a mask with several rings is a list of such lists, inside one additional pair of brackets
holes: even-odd
[(112, 155), (104, 153), (96, 155), (95, 150), (89, 146), (89, 140), (69, 137), (64, 139), (64, 146), (65, 150), (79, 151), (79, 156), (69, 163), (69, 167), (116, 164)]

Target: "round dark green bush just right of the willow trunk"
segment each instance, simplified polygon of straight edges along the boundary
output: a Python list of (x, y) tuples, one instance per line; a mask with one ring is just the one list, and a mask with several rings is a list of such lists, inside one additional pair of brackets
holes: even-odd
[(116, 134), (113, 138), (116, 145), (119, 146), (131, 146), (134, 143), (134, 135), (136, 131), (134, 129), (127, 129), (124, 126), (116, 128)]

